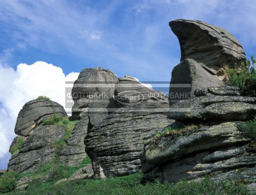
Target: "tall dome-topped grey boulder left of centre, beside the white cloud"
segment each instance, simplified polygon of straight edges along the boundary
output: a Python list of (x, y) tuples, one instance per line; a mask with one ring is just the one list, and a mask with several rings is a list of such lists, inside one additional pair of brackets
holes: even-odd
[[(84, 69), (74, 82), (72, 116), (77, 119), (82, 112), (89, 111), (90, 123), (95, 125), (108, 115), (106, 108), (113, 107), (113, 94), (118, 78), (111, 70), (97, 68)], [(103, 109), (103, 111), (102, 111)]]

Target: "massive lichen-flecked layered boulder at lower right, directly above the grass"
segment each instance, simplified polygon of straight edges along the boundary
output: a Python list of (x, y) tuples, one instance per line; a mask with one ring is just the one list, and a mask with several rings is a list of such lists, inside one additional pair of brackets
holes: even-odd
[(163, 133), (144, 144), (142, 170), (148, 181), (198, 181), (210, 175), (256, 182), (256, 146), (242, 135), (236, 122)]

